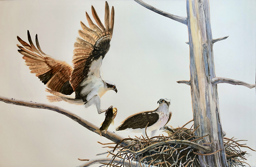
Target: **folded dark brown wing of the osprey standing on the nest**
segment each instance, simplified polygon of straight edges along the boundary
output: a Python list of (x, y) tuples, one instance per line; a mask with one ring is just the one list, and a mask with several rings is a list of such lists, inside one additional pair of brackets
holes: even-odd
[(140, 112), (134, 115), (129, 116), (124, 120), (122, 125), (116, 128), (116, 130), (125, 130), (128, 128), (138, 129), (145, 128), (148, 124), (148, 127), (154, 125), (159, 119), (159, 115), (154, 111)]

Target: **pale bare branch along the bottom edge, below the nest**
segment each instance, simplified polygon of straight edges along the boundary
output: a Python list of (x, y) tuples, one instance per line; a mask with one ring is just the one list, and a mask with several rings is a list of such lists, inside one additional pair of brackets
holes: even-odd
[[(77, 167), (88, 167), (88, 166), (91, 166), (96, 163), (111, 163), (112, 160), (113, 160), (113, 158), (97, 158), (97, 159), (92, 159), (90, 161), (87, 161), (86, 163), (84, 163), (80, 166), (77, 166)], [(124, 163), (123, 163), (123, 161), (124, 161)], [(129, 162), (128, 160), (123, 160), (121, 158), (115, 158), (112, 163), (118, 163), (120, 165), (124, 164), (124, 166), (127, 166), (127, 167), (141, 167), (140, 162), (136, 162), (136, 161)], [(148, 167), (148, 165), (145, 163), (141, 163), (141, 165)], [(150, 167), (156, 167), (156, 166), (151, 165)]]

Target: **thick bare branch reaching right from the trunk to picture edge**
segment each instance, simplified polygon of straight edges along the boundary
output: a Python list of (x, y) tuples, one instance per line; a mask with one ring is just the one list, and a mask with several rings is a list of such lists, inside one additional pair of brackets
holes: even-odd
[(212, 84), (217, 84), (217, 83), (229, 83), (232, 85), (243, 85), (250, 89), (255, 88), (255, 84), (251, 85), (251, 84), (243, 82), (243, 81), (238, 81), (238, 80), (229, 79), (229, 78), (221, 78), (221, 77), (212, 78)]

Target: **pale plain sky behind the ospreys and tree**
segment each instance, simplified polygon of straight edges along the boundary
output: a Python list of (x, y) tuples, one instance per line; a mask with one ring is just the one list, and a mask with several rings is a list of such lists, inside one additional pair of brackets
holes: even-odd
[[(185, 0), (146, 2), (186, 16)], [(169, 125), (178, 127), (193, 119), (190, 87), (176, 83), (190, 78), (187, 27), (135, 1), (108, 3), (115, 7), (115, 25), (102, 71), (103, 78), (114, 82), (118, 89), (117, 94), (109, 91), (101, 98), (102, 108), (113, 105), (118, 109), (109, 130), (131, 114), (156, 109), (160, 98), (171, 99)], [(37, 33), (44, 53), (71, 64), (79, 22), (87, 24), (85, 11), (91, 16), (91, 5), (102, 20), (105, 1), (0, 1), (0, 95), (49, 104), (46, 86), (30, 73), (17, 52), (16, 36), (28, 42), (30, 30), (35, 43)], [(210, 0), (213, 38), (229, 36), (214, 44), (216, 76), (255, 83), (255, 11), (256, 1)], [(221, 83), (218, 94), (227, 137), (248, 140), (247, 145), (255, 149), (255, 89)], [(65, 102), (52, 104), (95, 125), (105, 117), (97, 114), (94, 106), (85, 109)], [(118, 134), (140, 135), (129, 131)], [(78, 166), (83, 162), (77, 158), (98, 158), (97, 153), (106, 151), (97, 141), (109, 142), (62, 114), (0, 102), (1, 167)], [(243, 150), (252, 153), (247, 162), (256, 166), (255, 152)]]

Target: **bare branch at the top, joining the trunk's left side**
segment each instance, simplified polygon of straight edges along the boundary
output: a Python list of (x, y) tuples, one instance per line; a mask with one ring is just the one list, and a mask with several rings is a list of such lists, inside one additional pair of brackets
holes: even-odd
[(138, 4), (142, 5), (143, 7), (153, 11), (153, 12), (156, 12), (158, 14), (161, 14), (161, 15), (165, 16), (165, 17), (168, 17), (168, 18), (173, 19), (177, 22), (180, 22), (182, 24), (187, 25), (187, 17), (176, 16), (176, 15), (170, 14), (168, 12), (161, 11), (161, 10), (156, 9), (155, 7), (153, 7), (149, 4), (146, 4), (145, 2), (143, 2), (141, 0), (134, 0), (134, 1), (137, 2)]

